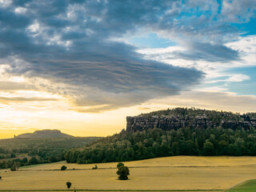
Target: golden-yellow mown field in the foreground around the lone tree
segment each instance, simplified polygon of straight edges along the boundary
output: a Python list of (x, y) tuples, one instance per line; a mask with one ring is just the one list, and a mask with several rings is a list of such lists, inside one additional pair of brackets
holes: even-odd
[[(226, 191), (238, 183), (256, 178), (256, 157), (154, 158), (125, 162), (130, 179), (117, 179), (116, 162), (78, 165), (57, 162), (22, 168), (16, 172), (0, 170), (0, 190), (179, 190)], [(62, 165), (68, 170), (60, 170)]]

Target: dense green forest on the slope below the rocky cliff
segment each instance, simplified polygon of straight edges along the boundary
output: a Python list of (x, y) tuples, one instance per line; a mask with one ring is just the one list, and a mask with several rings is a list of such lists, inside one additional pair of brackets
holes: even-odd
[(136, 133), (122, 131), (82, 149), (69, 150), (66, 162), (122, 162), (172, 155), (256, 155), (256, 130), (190, 127)]

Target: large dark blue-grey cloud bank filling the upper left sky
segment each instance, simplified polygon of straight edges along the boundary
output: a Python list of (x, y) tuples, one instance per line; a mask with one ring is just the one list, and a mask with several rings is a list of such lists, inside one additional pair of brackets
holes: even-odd
[[(0, 8), (0, 58), (10, 64), (9, 73), (62, 84), (59, 89), (44, 88), (73, 98), (77, 106), (93, 106), (90, 111), (178, 94), (198, 83), (202, 72), (147, 61), (134, 46), (110, 39), (140, 28), (165, 34), (176, 31), (184, 37), (193, 33), (210, 37), (214, 33), (213, 29), (206, 30), (206, 21), (198, 23), (197, 18), (190, 22), (197, 25), (193, 31), (182, 23), (183, 17), (181, 23), (174, 24), (174, 18), (181, 17), (182, 7), (180, 1), (158, 0), (15, 0)], [(209, 24), (214, 25), (214, 37), (226, 33), (219, 32), (220, 24)], [(174, 57), (223, 62), (238, 59), (238, 53), (223, 46), (222, 41), (199, 44), (201, 37), (195, 35), (188, 44), (192, 52), (176, 53)]]

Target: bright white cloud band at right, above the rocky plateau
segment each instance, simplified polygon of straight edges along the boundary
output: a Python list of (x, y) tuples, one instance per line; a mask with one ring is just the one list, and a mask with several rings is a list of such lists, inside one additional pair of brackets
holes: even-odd
[[(237, 50), (241, 60), (233, 62), (209, 62), (191, 61), (189, 59), (175, 58), (176, 51), (186, 50), (182, 46), (170, 46), (166, 48), (147, 48), (138, 50), (147, 59), (158, 62), (166, 62), (174, 66), (196, 68), (206, 73), (206, 83), (214, 82), (243, 82), (249, 80), (246, 74), (233, 74), (229, 72), (237, 67), (256, 66), (256, 35), (240, 37), (237, 41), (225, 44), (232, 50)], [(221, 79), (219, 79), (221, 78)], [(220, 87), (222, 89), (222, 87)]]

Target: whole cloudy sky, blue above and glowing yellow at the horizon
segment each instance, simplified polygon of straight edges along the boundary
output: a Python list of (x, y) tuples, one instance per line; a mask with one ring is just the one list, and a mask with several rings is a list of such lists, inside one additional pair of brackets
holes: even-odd
[(254, 0), (0, 0), (0, 138), (256, 109)]

